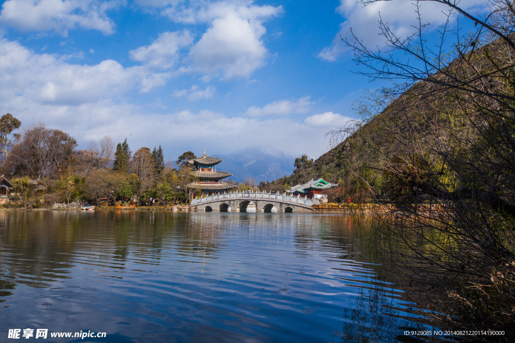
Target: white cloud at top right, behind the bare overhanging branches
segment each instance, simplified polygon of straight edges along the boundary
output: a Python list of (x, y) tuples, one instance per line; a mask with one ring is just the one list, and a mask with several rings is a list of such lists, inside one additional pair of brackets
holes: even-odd
[[(482, 12), (486, 4), (486, 0), (467, 0), (460, 2), (459, 5), (465, 10)], [(432, 24), (427, 30), (436, 30), (447, 20), (442, 11), (447, 12), (448, 6), (432, 1), (420, 2), (420, 6), (422, 22)], [(394, 34), (400, 38), (406, 38), (415, 32), (413, 26), (418, 27), (415, 10), (414, 2), (409, 0), (379, 1), (365, 7), (355, 0), (340, 0), (336, 11), (344, 17), (345, 21), (340, 24), (340, 30), (336, 33), (333, 44), (320, 51), (318, 57), (326, 61), (336, 61), (339, 56), (348, 51), (341, 38), (353, 42), (351, 29), (359, 40), (363, 40), (365, 46), (372, 49), (385, 47), (384, 37), (378, 35), (380, 14), (383, 22), (388, 22)]]

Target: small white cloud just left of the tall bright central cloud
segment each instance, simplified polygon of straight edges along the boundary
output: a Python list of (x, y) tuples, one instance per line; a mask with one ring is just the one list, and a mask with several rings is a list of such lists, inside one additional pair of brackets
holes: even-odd
[(168, 69), (178, 62), (180, 48), (192, 43), (193, 35), (188, 30), (163, 32), (152, 44), (132, 50), (129, 55), (132, 60), (143, 62), (149, 67)]

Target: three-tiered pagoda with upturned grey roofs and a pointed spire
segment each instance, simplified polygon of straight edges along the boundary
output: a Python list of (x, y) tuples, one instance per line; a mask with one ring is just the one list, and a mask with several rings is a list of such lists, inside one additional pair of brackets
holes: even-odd
[(222, 179), (231, 176), (232, 173), (226, 173), (216, 170), (216, 165), (224, 159), (204, 155), (189, 159), (187, 163), (192, 166), (193, 174), (198, 178), (198, 182), (188, 184), (188, 188), (199, 189), (202, 196), (223, 193), (238, 187), (237, 185), (223, 182)]

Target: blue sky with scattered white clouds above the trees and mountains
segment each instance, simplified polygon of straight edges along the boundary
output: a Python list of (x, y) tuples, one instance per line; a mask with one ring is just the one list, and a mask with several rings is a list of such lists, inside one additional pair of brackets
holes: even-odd
[[(443, 22), (442, 5), (422, 6), (426, 21)], [(379, 85), (351, 73), (339, 40), (352, 27), (383, 47), (379, 12), (396, 33), (413, 32), (407, 0), (8, 0), (0, 112), (68, 132), (82, 149), (110, 135), (171, 159), (204, 147), (316, 158), (354, 116), (352, 101)]]

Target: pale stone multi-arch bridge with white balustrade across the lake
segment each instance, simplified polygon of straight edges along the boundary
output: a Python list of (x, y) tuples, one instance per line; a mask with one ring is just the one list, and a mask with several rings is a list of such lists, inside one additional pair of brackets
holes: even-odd
[(318, 200), (267, 192), (230, 192), (193, 199), (192, 211), (216, 212), (310, 212)]

